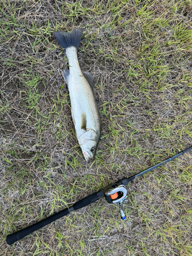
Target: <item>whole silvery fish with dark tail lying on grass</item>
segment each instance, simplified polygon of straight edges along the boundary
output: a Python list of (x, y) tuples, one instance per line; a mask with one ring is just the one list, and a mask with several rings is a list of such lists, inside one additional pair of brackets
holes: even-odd
[(94, 97), (94, 78), (89, 72), (83, 72), (78, 61), (78, 48), (83, 28), (72, 32), (55, 31), (54, 36), (65, 52), (69, 69), (62, 70), (70, 95), (71, 114), (77, 140), (87, 162), (95, 158), (101, 136), (101, 120)]

